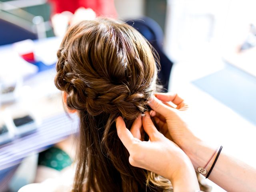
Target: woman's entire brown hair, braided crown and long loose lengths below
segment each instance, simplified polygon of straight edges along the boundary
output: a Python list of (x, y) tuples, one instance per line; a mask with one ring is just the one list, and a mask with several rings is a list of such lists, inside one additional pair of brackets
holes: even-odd
[[(109, 19), (84, 21), (68, 30), (58, 51), (55, 84), (80, 117), (74, 191), (146, 191), (149, 173), (128, 162), (114, 120), (130, 129), (156, 89), (157, 59), (131, 26)], [(170, 184), (149, 182), (148, 191)]]

